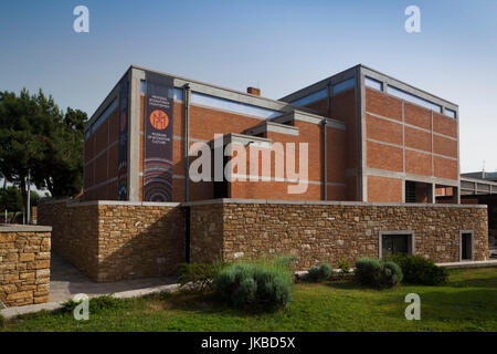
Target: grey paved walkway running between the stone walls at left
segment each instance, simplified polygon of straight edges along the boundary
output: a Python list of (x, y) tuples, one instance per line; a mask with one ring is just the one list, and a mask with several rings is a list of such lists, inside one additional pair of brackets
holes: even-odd
[(66, 301), (80, 293), (85, 293), (92, 298), (102, 294), (169, 285), (177, 282), (176, 277), (158, 277), (97, 283), (54, 252), (52, 252), (50, 272), (51, 302)]

